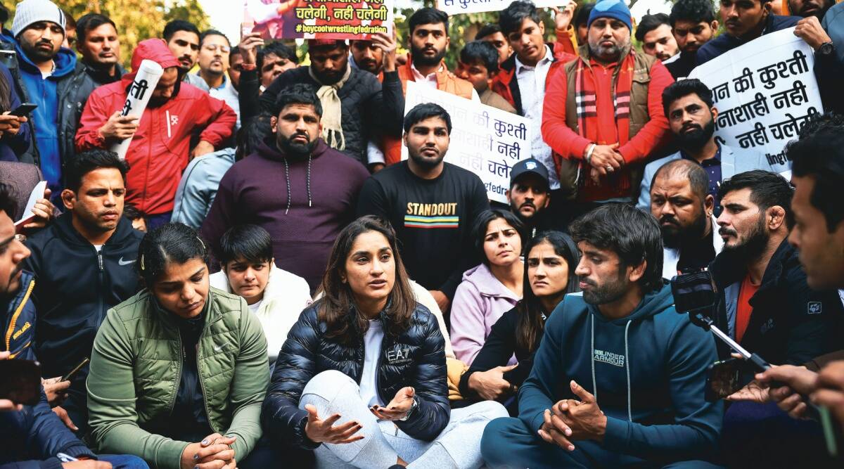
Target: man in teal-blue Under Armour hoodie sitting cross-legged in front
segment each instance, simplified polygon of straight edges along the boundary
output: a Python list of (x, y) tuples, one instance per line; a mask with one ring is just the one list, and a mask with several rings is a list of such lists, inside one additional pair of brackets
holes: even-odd
[(674, 310), (656, 219), (606, 204), (570, 226), (582, 293), (545, 324), (519, 418), (484, 430), (491, 467), (714, 467), (722, 405), (706, 402), (715, 342)]

